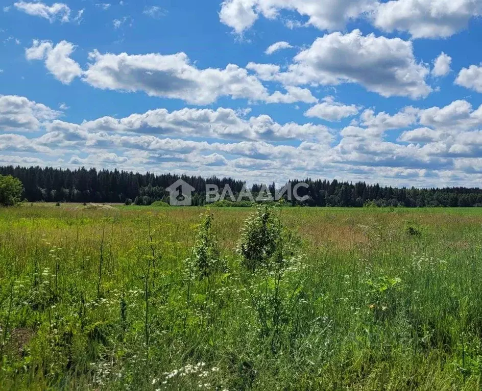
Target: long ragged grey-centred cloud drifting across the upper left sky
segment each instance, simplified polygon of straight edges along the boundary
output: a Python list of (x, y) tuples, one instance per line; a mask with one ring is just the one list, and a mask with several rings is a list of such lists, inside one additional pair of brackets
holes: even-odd
[(196, 105), (209, 105), (221, 96), (267, 103), (315, 103), (317, 99), (307, 88), (284, 85), (286, 92), (270, 93), (255, 75), (234, 64), (226, 68), (198, 69), (185, 53), (161, 55), (89, 53), (86, 70), (69, 56), (74, 44), (66, 41), (53, 45), (50, 41), (34, 40), (26, 50), (29, 60), (45, 59), (46, 68), (62, 83), (75, 77), (97, 88), (118, 91), (143, 91), (150, 96), (182, 99)]

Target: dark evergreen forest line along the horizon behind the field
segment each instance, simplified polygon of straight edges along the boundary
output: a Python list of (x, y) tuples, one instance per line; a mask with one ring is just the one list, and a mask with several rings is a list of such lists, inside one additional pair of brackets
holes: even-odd
[[(23, 184), (22, 199), (29, 202), (123, 202), (150, 205), (155, 201), (168, 202), (166, 188), (176, 180), (183, 179), (194, 187), (194, 205), (203, 205), (206, 184), (223, 189), (229, 185), (234, 194), (242, 191), (245, 182), (233, 178), (218, 178), (175, 174), (156, 175), (132, 171), (97, 170), (84, 167), (70, 170), (53, 167), (0, 166), (0, 175), (11, 175)], [(336, 179), (306, 178), (292, 180), (294, 185), (304, 182), (308, 188), (300, 188), (305, 201), (290, 201), (303, 206), (482, 206), (482, 190), (479, 188), (394, 188), (378, 184), (355, 184)], [(259, 193), (263, 184), (251, 187), (253, 195)], [(275, 185), (269, 185), (274, 193)]]

